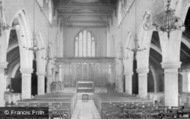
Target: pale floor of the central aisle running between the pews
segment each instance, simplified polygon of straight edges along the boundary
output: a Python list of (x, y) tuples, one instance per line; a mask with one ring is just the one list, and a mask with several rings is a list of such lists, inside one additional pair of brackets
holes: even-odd
[(88, 102), (77, 101), (71, 119), (101, 119), (93, 100)]

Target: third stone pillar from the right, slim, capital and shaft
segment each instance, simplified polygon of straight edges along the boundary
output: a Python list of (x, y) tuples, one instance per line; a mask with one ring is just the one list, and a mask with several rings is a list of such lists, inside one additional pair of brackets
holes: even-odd
[(133, 72), (125, 73), (125, 92), (126, 94), (132, 94), (132, 75)]

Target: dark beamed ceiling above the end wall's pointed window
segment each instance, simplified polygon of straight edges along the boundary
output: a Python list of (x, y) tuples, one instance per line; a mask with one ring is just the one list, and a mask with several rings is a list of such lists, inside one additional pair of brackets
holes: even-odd
[(105, 27), (117, 0), (54, 0), (62, 26)]

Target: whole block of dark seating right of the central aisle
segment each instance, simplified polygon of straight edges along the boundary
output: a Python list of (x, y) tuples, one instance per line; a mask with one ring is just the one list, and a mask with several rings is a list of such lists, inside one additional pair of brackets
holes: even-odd
[(126, 94), (95, 94), (102, 119), (190, 119), (190, 109), (167, 107)]

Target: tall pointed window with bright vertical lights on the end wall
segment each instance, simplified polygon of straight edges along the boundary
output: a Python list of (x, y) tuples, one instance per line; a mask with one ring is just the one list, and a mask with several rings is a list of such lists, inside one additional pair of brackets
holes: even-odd
[(95, 39), (87, 30), (75, 38), (75, 57), (95, 57)]

